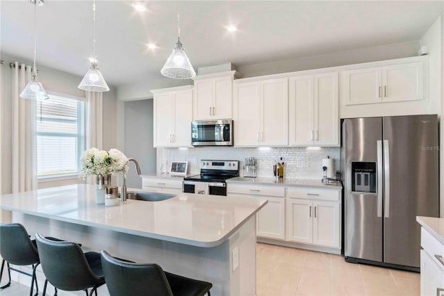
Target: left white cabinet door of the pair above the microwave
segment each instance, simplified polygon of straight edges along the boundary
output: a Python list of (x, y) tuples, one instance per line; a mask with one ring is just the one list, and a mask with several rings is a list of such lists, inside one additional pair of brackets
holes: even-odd
[(213, 107), (213, 79), (202, 79), (194, 81), (193, 119), (211, 119)]

